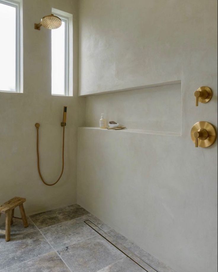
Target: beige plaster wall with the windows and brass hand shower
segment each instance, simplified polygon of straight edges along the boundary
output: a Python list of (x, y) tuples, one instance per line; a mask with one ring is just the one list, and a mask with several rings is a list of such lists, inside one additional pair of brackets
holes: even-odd
[[(73, 14), (73, 97), (51, 95), (51, 31), (34, 29), (52, 8)], [(0, 92), (0, 202), (27, 199), (28, 214), (76, 203), (77, 127), (84, 120), (84, 98), (77, 96), (77, 1), (23, 0), (23, 94)], [(36, 128), (40, 126), (41, 171), (48, 183), (61, 171), (63, 106), (68, 106), (65, 171), (55, 186), (44, 185), (36, 161)], [(1, 218), (3, 220), (3, 217)]]

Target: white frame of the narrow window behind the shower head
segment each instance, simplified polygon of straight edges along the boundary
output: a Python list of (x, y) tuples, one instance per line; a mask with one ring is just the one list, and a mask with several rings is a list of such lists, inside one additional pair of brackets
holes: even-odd
[[(73, 96), (73, 71), (70, 60), (73, 61), (73, 44), (70, 35), (73, 37), (73, 15), (67, 12), (63, 12), (58, 9), (52, 8), (52, 13), (58, 16), (63, 22), (65, 22), (65, 41), (64, 41), (64, 95), (52, 94), (54, 96)], [(55, 30), (53, 30), (55, 31)], [(70, 52), (72, 49), (72, 52)]]

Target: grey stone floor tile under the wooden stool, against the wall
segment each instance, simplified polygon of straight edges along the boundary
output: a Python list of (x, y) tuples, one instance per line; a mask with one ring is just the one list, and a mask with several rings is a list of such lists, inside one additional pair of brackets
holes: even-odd
[[(11, 225), (11, 237), (37, 230), (37, 228), (33, 224), (32, 220), (28, 217), (27, 217), (27, 220), (29, 223), (29, 226), (27, 228), (23, 227), (22, 221), (15, 221), (14, 220), (14, 223)], [(5, 223), (2, 223), (0, 225), (0, 229), (5, 229)], [(5, 235), (3, 235), (3, 234), (0, 234), (0, 242), (1, 241), (5, 241)]]

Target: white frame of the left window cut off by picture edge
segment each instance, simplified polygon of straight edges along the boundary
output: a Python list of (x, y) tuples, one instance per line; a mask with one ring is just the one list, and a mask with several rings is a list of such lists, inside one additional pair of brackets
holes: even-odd
[[(0, 90), (0, 92), (9, 92), (9, 93), (22, 93), (23, 92), (23, 80), (21, 80), (22, 68), (23, 68), (23, 59), (21, 61), (21, 5), (22, 2), (12, 1), (12, 0), (0, 0), (1, 4), (5, 4), (16, 9), (16, 79), (15, 79), (15, 91), (5, 91)], [(22, 54), (23, 56), (23, 54)]]

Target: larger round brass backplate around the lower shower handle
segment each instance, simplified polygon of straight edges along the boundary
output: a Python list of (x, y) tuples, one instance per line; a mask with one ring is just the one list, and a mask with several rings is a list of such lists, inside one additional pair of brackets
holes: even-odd
[(194, 132), (200, 131), (201, 129), (206, 129), (206, 131), (208, 132), (208, 137), (206, 138), (206, 140), (200, 140), (198, 138), (198, 146), (209, 147), (214, 144), (217, 139), (217, 131), (211, 123), (206, 121), (200, 121), (193, 125), (191, 129), (191, 138), (193, 142), (195, 143)]

